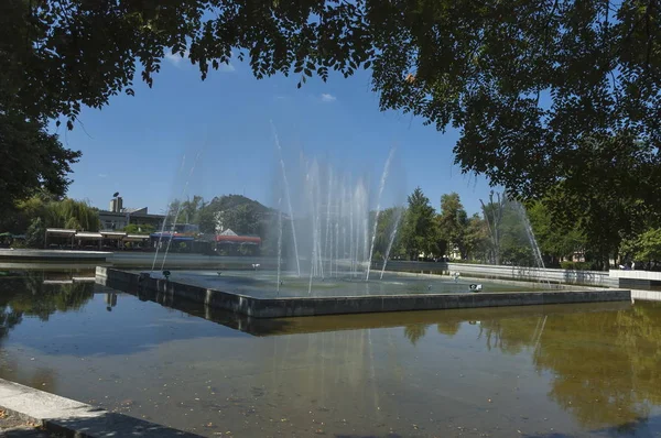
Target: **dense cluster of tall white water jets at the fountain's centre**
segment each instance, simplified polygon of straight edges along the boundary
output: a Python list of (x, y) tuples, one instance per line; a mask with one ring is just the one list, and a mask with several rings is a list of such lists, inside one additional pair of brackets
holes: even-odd
[[(289, 239), (279, 239), (279, 259), (285, 254), (290, 266), (295, 263), (296, 274), (307, 275), (308, 293), (312, 293), (314, 278), (369, 280), (376, 221), (379, 220), (394, 149), (384, 164), (378, 191), (370, 199), (365, 177), (339, 172), (314, 158), (301, 160), (299, 172), (295, 168), (284, 172), (285, 162), (279, 142), (277, 146), (282, 169), (278, 198), (284, 197), (288, 201), (292, 228)], [(289, 165), (286, 168), (292, 169)], [(373, 204), (377, 210), (370, 218), (370, 205)], [(393, 232), (395, 229), (393, 227)], [(289, 250), (283, 251), (283, 245)]]

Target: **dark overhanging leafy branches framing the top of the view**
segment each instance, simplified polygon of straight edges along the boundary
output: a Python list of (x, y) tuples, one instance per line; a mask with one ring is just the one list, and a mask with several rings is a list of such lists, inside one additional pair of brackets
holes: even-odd
[(657, 1), (6, 3), (0, 112), (73, 128), (82, 106), (133, 95), (136, 77), (151, 86), (171, 53), (203, 79), (232, 53), (257, 78), (291, 74), (299, 86), (371, 67), (382, 109), (460, 130), (464, 172), (528, 198), (602, 178), (622, 199), (661, 204)]

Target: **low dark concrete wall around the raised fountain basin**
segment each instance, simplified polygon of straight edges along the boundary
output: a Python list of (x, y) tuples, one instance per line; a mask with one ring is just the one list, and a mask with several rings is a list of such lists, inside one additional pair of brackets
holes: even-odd
[(253, 298), (163, 278), (140, 278), (138, 273), (104, 266), (97, 267), (96, 278), (104, 285), (150, 289), (254, 318), (631, 300), (631, 292), (625, 289)]

